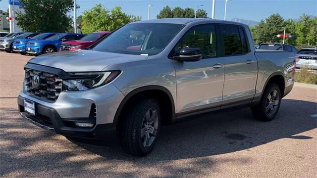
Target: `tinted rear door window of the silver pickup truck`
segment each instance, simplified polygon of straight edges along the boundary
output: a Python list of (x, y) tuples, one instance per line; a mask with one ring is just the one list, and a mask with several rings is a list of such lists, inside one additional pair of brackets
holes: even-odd
[(222, 40), (224, 44), (224, 54), (226, 56), (244, 54), (249, 51), (247, 39), (240, 27), (232, 25), (221, 25), (221, 29)]

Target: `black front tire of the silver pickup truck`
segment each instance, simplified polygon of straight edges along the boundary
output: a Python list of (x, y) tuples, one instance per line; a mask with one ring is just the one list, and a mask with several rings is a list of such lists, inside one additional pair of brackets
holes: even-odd
[[(153, 112), (153, 109), (155, 109), (156, 112)], [(153, 116), (155, 115), (155, 113), (157, 113), (157, 117), (155, 117), (157, 121), (157, 129), (155, 132), (155, 136), (151, 136), (151, 138), (150, 136), (147, 137), (148, 140), (152, 140), (151, 144), (144, 146), (144, 144), (147, 143), (147, 141), (145, 141), (145, 136), (151, 135), (151, 133), (149, 130), (146, 134), (144, 134), (143, 132), (144, 136), (142, 137), (141, 130), (144, 131), (145, 127), (147, 127), (145, 125), (149, 124), (145, 123), (147, 121), (144, 122), (144, 119), (147, 120), (146, 114), (148, 112), (151, 112), (151, 110), (152, 114), (154, 113)], [(149, 154), (156, 144), (159, 135), (159, 129), (159, 103), (154, 98), (143, 98), (138, 100), (136, 103), (133, 103), (133, 105), (131, 105), (130, 109), (126, 112), (124, 116), (124, 121), (121, 128), (121, 141), (124, 151), (134, 156), (145, 156)]]

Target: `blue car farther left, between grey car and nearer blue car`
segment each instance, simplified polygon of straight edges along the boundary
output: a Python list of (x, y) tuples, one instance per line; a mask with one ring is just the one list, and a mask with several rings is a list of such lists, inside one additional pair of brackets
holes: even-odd
[(45, 40), (48, 39), (49, 37), (55, 35), (56, 33), (42, 33), (39, 34), (37, 36), (34, 36), (32, 38), (29, 39), (18, 39), (18, 40), (14, 40), (13, 45), (12, 45), (12, 50), (15, 52), (19, 52), (20, 54), (26, 54), (26, 44), (29, 41), (32, 40)]

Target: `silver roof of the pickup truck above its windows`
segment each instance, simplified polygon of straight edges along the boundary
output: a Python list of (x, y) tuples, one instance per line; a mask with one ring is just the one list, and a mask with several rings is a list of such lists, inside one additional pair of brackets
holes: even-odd
[[(242, 24), (238, 22), (228, 21), (228, 20), (217, 20), (210, 18), (162, 18), (162, 19), (152, 19), (152, 20), (142, 20), (133, 23), (171, 23), (171, 24), (188, 24), (193, 22), (210, 22), (210, 23), (226, 23), (226, 24)], [(243, 24), (245, 25), (245, 24)]]

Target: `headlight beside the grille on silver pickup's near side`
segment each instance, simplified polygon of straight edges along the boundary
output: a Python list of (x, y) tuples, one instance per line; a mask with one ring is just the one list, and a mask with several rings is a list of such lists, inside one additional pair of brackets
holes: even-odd
[(121, 71), (72, 72), (76, 79), (63, 80), (63, 91), (81, 91), (104, 86), (114, 80)]

